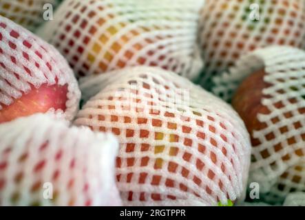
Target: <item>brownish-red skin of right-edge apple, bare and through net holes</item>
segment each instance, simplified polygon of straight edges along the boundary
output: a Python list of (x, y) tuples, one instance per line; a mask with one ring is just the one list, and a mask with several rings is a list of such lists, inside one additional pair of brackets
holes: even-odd
[[(266, 72), (264, 69), (260, 69), (259, 71), (250, 74), (248, 77), (246, 77), (238, 89), (235, 91), (235, 94), (232, 99), (232, 106), (237, 111), (244, 120), (244, 124), (246, 124), (246, 128), (248, 129), (249, 133), (251, 134), (251, 142), (253, 146), (253, 151), (255, 151), (256, 146), (261, 146), (265, 145), (266, 148), (274, 148), (275, 152), (281, 151), (282, 148), (288, 148), (290, 145), (295, 144), (295, 139), (293, 137), (287, 137), (287, 144), (283, 146), (283, 144), (277, 143), (273, 146), (272, 144), (270, 145), (271, 140), (275, 140), (277, 137), (270, 133), (270, 135), (267, 138), (269, 142), (264, 143), (261, 142), (259, 139), (253, 137), (253, 132), (260, 132), (263, 129), (266, 129), (268, 126), (266, 122), (261, 122), (258, 118), (257, 115), (262, 114), (262, 115), (268, 115), (271, 113), (271, 111), (266, 107), (266, 105), (262, 104), (262, 99), (263, 98), (271, 98), (270, 96), (266, 96), (263, 94), (263, 89), (266, 89), (268, 87), (271, 87), (271, 84), (266, 83), (264, 80), (264, 76), (266, 76)], [(293, 87), (291, 87), (293, 90)], [(283, 91), (284, 92), (284, 91)], [(289, 98), (288, 99), (291, 104), (297, 104), (295, 98)], [(283, 103), (282, 102), (276, 102), (274, 104), (276, 109), (282, 109)], [(298, 109), (299, 113), (305, 113), (305, 109), (300, 107)], [(289, 120), (289, 112), (284, 113), (284, 116), (286, 117), (285, 120)], [(274, 123), (276, 124), (279, 121), (278, 118), (274, 119)], [(284, 124), (287, 124), (284, 123)], [(280, 131), (282, 134), (286, 133), (288, 131), (288, 128), (282, 125), (280, 128)], [(299, 123), (295, 123), (295, 129), (299, 129), (301, 125)], [(273, 130), (275, 131), (278, 129), (277, 126), (272, 126)], [(305, 135), (302, 135), (303, 140), (305, 140)], [(260, 152), (261, 156), (263, 159), (268, 159), (272, 155), (270, 155), (269, 151), (264, 150)], [(297, 149), (295, 150), (295, 154), (302, 157), (304, 156), (304, 152), (302, 149)], [(283, 161), (288, 161), (291, 159), (289, 156), (289, 153), (286, 153), (286, 155), (282, 156)], [(253, 157), (253, 162), (256, 162), (256, 158)], [(272, 161), (273, 162), (273, 161)], [(272, 163), (271, 162), (271, 163)]]

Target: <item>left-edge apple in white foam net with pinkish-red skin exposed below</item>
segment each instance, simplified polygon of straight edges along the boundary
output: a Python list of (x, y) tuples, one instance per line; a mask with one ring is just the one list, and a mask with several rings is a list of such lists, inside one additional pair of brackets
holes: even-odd
[(72, 120), (81, 91), (65, 58), (0, 16), (0, 123), (51, 109)]

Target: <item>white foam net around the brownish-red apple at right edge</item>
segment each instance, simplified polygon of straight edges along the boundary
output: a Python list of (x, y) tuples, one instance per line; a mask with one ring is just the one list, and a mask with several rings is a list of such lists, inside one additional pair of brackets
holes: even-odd
[[(223, 74), (221, 82), (227, 82), (227, 86), (218, 81), (218, 91), (232, 94), (243, 78), (260, 69), (264, 69), (263, 80), (267, 86), (262, 89), (262, 100), (255, 105), (260, 109), (253, 118), (257, 129), (251, 133), (249, 181), (258, 182), (263, 193), (278, 184), (282, 191), (278, 196), (282, 197), (287, 190), (281, 186), (282, 180), (277, 183), (279, 177), (304, 159), (305, 52), (279, 46), (255, 50), (240, 58), (231, 72)], [(253, 94), (249, 102), (251, 98)], [(286, 184), (287, 188), (294, 187), (289, 181)]]

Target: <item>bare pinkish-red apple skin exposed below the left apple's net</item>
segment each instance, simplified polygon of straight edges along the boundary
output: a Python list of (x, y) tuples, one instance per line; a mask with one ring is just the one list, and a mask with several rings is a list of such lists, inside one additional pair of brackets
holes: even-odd
[(38, 89), (32, 86), (28, 94), (23, 94), (21, 98), (14, 100), (10, 105), (3, 105), (0, 110), (0, 123), (34, 113), (45, 113), (51, 108), (65, 111), (66, 102), (67, 85), (43, 84)]

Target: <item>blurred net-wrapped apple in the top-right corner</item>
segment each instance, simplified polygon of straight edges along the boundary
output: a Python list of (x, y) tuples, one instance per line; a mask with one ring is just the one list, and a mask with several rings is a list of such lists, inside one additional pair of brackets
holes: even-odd
[(200, 16), (205, 62), (200, 83), (211, 89), (213, 77), (255, 48), (290, 45), (304, 49), (304, 21), (304, 0), (206, 0)]

